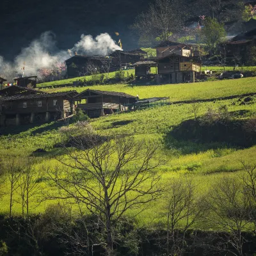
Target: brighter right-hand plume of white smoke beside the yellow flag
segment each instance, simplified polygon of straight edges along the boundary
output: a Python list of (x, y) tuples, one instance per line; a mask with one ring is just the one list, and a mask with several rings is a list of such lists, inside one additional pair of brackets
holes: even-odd
[(102, 56), (107, 56), (116, 50), (122, 50), (122, 48), (116, 45), (108, 33), (102, 33), (95, 39), (91, 35), (81, 35), (81, 40), (72, 49), (73, 52), (80, 54)]

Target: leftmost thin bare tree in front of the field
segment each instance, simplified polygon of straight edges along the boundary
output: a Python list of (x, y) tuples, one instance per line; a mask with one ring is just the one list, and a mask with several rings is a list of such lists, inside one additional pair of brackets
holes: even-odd
[(20, 177), (20, 158), (17, 156), (10, 156), (4, 162), (4, 169), (7, 175), (8, 185), (10, 186), (10, 207), (9, 207), (9, 217), (12, 217), (12, 207), (13, 207), (13, 194), (19, 188), (19, 177)]

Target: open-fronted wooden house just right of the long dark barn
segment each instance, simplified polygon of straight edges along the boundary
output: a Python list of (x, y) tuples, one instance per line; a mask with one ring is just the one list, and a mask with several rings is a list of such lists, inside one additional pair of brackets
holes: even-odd
[(74, 97), (77, 108), (89, 117), (99, 117), (125, 111), (125, 104), (136, 102), (136, 97), (122, 92), (85, 90)]

